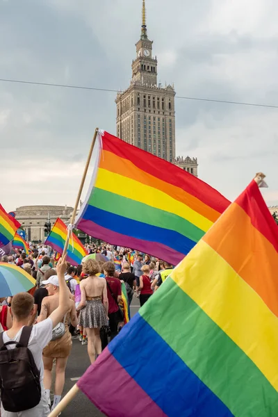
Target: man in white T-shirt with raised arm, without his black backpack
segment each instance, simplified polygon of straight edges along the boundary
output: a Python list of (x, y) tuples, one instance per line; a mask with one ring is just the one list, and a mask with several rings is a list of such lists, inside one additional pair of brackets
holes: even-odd
[[(33, 355), (35, 365), (40, 371), (40, 382), (42, 386), (42, 395), (40, 402), (32, 409), (20, 411), (19, 413), (10, 413), (1, 406), (1, 417), (47, 417), (49, 415), (49, 404), (47, 402), (47, 393), (44, 391), (43, 378), (44, 367), (42, 362), (42, 350), (51, 341), (52, 329), (63, 320), (65, 313), (70, 308), (70, 298), (68, 296), (67, 286), (65, 284), (65, 259), (60, 259), (57, 265), (58, 283), (60, 286), (57, 308), (49, 315), (46, 320), (33, 326), (31, 336), (28, 340), (28, 349)], [(30, 322), (30, 317), (33, 316), (33, 297), (28, 293), (18, 293), (13, 297), (11, 311), (13, 314), (13, 325), (7, 332), (3, 333), (3, 343), (10, 341), (19, 342), (22, 334), (22, 329)], [(7, 345), (8, 349), (15, 348), (15, 344)], [(13, 398), (11, 398), (13, 401)]]

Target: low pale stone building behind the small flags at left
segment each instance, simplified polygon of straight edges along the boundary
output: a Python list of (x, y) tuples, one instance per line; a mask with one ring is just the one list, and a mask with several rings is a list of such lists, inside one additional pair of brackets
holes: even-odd
[(26, 240), (44, 242), (44, 224), (48, 220), (51, 227), (57, 218), (65, 224), (70, 222), (70, 215), (74, 209), (67, 206), (22, 206), (16, 209), (15, 218), (22, 224), (26, 232)]

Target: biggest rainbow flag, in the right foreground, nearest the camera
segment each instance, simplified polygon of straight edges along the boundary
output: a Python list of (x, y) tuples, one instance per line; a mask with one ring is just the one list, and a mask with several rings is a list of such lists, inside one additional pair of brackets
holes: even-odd
[(277, 224), (252, 181), (79, 388), (111, 417), (278, 416), (277, 265)]

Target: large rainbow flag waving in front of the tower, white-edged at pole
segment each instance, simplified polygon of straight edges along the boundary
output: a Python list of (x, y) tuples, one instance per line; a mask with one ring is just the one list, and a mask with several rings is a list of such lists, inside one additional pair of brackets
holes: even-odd
[(107, 132), (97, 145), (99, 164), (76, 219), (90, 236), (177, 265), (230, 204), (192, 174)]

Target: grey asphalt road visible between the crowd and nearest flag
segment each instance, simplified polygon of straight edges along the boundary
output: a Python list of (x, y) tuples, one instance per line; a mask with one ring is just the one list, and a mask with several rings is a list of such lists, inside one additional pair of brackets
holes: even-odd
[[(134, 316), (138, 309), (139, 300), (133, 297), (131, 316)], [(65, 373), (65, 389), (63, 395), (70, 391), (72, 386), (76, 384), (79, 377), (83, 375), (89, 366), (90, 361), (88, 358), (87, 346), (82, 346), (79, 339), (74, 338), (72, 340), (72, 353), (67, 363), (67, 370)], [(102, 414), (83, 393), (79, 393), (61, 414), (61, 417), (72, 416), (102, 417), (104, 414)]]

